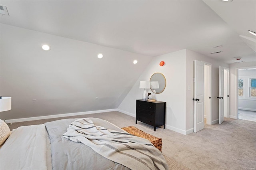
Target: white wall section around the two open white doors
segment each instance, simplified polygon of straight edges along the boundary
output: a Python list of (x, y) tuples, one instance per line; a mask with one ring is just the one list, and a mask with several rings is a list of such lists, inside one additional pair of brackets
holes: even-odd
[[(219, 119), (219, 66), (229, 67), (228, 64), (206, 57), (191, 50), (186, 50), (186, 131), (190, 133), (194, 128), (194, 60), (205, 61), (212, 64), (212, 124)], [(188, 87), (191, 90), (188, 90)]]

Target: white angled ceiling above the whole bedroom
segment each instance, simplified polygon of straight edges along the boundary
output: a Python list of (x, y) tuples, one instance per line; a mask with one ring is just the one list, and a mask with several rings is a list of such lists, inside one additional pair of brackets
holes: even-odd
[(10, 14), (1, 23), (29, 30), (150, 56), (186, 48), (226, 63), (256, 60), (256, 36), (247, 31), (256, 32), (255, 0), (0, 3)]

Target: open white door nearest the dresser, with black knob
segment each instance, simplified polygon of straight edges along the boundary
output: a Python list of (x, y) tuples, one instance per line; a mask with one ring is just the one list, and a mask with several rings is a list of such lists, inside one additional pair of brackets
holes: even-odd
[(204, 128), (204, 62), (194, 64), (194, 132), (198, 132)]

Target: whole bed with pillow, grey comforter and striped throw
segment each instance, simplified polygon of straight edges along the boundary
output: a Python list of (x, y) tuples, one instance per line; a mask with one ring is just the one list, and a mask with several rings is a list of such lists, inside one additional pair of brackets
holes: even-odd
[(149, 140), (102, 119), (62, 119), (18, 127), (11, 134), (3, 130), (5, 122), (0, 125), (0, 134), (7, 136), (0, 143), (1, 170), (168, 169)]

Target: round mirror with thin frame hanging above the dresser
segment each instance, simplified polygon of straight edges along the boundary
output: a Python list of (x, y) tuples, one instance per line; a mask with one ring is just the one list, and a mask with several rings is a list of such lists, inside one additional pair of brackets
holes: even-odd
[(162, 93), (166, 86), (166, 79), (162, 73), (154, 73), (150, 78), (150, 89), (154, 93)]

